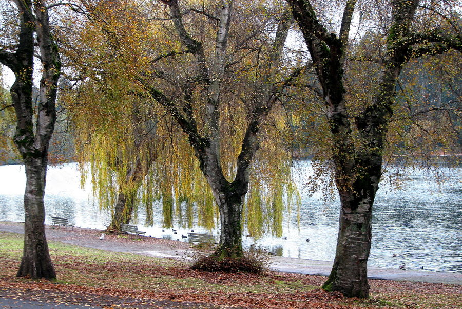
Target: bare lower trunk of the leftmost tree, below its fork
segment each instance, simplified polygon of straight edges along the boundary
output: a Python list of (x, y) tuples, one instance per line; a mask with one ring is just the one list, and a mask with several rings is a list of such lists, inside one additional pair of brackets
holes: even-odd
[(27, 160), (26, 192), (24, 194), (24, 250), (21, 265), (16, 276), (30, 278), (56, 278), (54, 266), (48, 252), (45, 238), (45, 177), (47, 159), (35, 158)]

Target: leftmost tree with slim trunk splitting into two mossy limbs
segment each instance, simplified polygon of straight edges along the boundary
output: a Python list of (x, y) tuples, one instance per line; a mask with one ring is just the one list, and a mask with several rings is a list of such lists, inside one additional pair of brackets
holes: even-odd
[[(44, 2), (17, 0), (15, 4), (20, 20), (17, 47), (14, 51), (0, 51), (0, 62), (8, 66), (16, 77), (10, 88), (16, 113), (14, 143), (24, 161), (27, 178), (24, 194), (24, 251), (16, 276), (53, 279), (56, 274), (45, 238), (43, 197), (48, 146), (56, 120), (56, 85), (61, 62)], [(36, 109), (32, 102), (34, 33), (43, 65)]]

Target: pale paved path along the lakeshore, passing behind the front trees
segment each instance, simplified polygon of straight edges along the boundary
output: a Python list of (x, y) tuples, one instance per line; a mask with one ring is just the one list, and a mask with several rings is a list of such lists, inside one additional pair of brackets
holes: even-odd
[[(0, 231), (24, 233), (24, 224), (17, 222), (0, 222)], [(106, 237), (100, 241), (98, 236), (101, 231), (74, 228), (65, 230), (62, 228), (46, 228), (47, 239), (61, 241), (85, 247), (131, 252), (140, 255), (166, 258), (187, 258), (191, 253), (188, 243), (170, 241), (147, 237), (146, 241), (132, 242), (115, 237)], [(282, 272), (298, 272), (300, 274), (328, 276), (332, 268), (332, 262), (296, 259), (273, 256), (271, 268)], [(454, 272), (432, 272), (425, 270), (398, 270), (379, 267), (368, 267), (368, 278), (397, 281), (447, 283), (462, 285), (462, 274)]]

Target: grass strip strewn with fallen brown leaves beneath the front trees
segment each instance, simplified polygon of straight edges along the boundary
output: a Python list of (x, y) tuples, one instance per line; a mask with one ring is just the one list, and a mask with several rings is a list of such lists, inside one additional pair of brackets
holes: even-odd
[[(0, 282), (7, 288), (49, 284), (14, 277), (22, 246), (22, 235), (0, 232)], [(184, 262), (131, 253), (53, 241), (49, 248), (58, 276), (50, 289), (69, 293), (104, 289), (114, 296), (267, 309), (322, 307), (319, 303), (332, 308), (462, 308), (462, 288), (454, 285), (371, 280), (372, 299), (345, 299), (319, 289), (325, 277), (275, 272), (212, 274), (189, 270)]]

